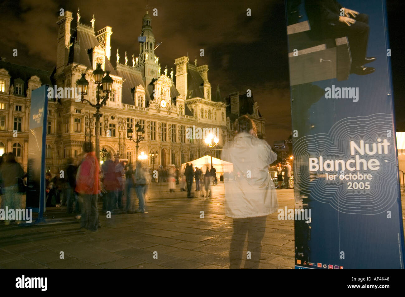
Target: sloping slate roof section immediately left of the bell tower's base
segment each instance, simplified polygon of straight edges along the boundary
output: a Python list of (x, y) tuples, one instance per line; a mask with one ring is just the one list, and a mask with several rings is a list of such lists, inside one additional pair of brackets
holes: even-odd
[[(117, 75), (125, 79), (122, 84), (122, 103), (134, 105), (134, 96), (131, 93), (131, 89), (139, 85), (145, 88), (141, 72), (132, 69), (132, 67), (118, 64)], [(150, 100), (149, 90), (145, 88), (145, 106), (147, 106)]]

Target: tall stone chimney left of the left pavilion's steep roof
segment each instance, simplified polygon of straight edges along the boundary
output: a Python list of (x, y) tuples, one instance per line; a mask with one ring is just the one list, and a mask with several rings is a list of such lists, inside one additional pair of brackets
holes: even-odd
[(58, 50), (56, 53), (56, 74), (62, 72), (64, 66), (68, 64), (69, 43), (70, 43), (70, 22), (72, 12), (65, 11), (65, 15), (58, 18)]

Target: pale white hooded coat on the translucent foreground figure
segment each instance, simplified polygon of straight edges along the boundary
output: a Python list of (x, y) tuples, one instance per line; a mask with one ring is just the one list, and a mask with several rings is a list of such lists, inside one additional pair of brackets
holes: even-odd
[(225, 181), (225, 214), (231, 218), (266, 216), (278, 209), (269, 164), (277, 154), (269, 144), (241, 132), (222, 149), (221, 159), (233, 163), (236, 180)]

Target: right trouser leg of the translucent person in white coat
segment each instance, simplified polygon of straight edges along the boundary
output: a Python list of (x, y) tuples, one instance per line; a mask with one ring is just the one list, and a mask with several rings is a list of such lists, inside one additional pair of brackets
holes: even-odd
[(259, 269), (262, 239), (266, 231), (267, 216), (249, 219), (247, 233), (247, 250), (251, 252), (251, 259), (246, 259), (245, 268)]

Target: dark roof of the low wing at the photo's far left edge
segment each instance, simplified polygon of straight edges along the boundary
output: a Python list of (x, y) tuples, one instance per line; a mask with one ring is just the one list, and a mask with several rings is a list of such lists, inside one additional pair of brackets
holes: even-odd
[[(53, 81), (51, 81), (51, 73), (52, 71), (46, 71), (41, 69), (35, 69), (27, 66), (21, 66), (17, 64), (11, 64), (10, 62), (4, 62), (0, 60), (0, 69), (4, 68), (9, 72), (10, 78), (10, 85), (14, 84), (15, 79), (21, 78), (24, 81), (24, 92), (27, 90), (28, 87), (28, 80), (31, 76), (38, 76), (41, 83), (43, 85), (47, 84), (49, 86), (53, 86)], [(15, 86), (14, 86), (15, 87)]]

